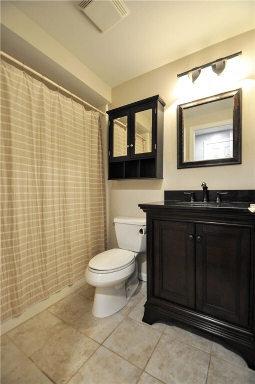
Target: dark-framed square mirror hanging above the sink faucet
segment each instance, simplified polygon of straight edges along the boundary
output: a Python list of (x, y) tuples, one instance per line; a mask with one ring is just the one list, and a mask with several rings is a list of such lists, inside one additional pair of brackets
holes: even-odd
[(241, 163), (241, 89), (178, 105), (178, 168)]

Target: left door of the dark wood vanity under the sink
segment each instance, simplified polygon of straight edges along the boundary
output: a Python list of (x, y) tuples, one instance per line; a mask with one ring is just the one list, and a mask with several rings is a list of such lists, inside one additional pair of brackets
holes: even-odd
[(189, 307), (194, 306), (193, 234), (192, 223), (154, 221), (154, 294)]

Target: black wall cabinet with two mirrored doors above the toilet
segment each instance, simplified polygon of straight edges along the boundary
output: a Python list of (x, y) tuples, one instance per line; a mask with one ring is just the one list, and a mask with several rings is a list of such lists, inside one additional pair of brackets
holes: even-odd
[(163, 110), (159, 95), (107, 111), (108, 179), (163, 177)]

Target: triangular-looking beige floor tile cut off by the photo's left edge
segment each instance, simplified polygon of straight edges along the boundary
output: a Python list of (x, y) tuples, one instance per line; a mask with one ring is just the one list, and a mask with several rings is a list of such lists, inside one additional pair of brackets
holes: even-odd
[[(1, 336), (1, 378), (18, 364), (27, 359), (26, 355), (4, 334)], [(1, 380), (2, 382), (2, 380)]]

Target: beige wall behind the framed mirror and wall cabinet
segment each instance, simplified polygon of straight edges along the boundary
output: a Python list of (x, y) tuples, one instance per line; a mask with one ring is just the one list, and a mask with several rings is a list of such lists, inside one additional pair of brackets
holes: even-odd
[[(240, 50), (242, 51), (239, 56), (240, 80), (231, 78), (230, 82), (222, 84), (221, 76), (215, 75), (213, 84), (202, 88), (195, 83), (193, 88), (189, 88), (189, 93), (184, 89), (176, 95), (177, 73)], [(242, 88), (242, 163), (177, 169), (177, 104), (239, 87)], [(109, 109), (155, 94), (159, 94), (166, 103), (163, 180), (106, 181), (108, 247), (117, 245), (111, 226), (113, 217), (116, 215), (144, 217), (145, 214), (139, 209), (138, 203), (161, 200), (164, 190), (199, 189), (202, 181), (207, 183), (209, 189), (253, 189), (255, 187), (254, 30), (209, 46), (116, 86), (112, 89), (112, 104), (109, 105)], [(104, 140), (107, 140), (105, 132)]]

